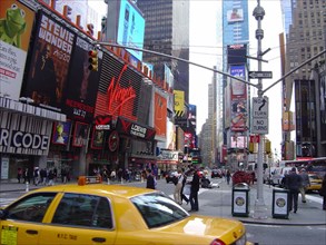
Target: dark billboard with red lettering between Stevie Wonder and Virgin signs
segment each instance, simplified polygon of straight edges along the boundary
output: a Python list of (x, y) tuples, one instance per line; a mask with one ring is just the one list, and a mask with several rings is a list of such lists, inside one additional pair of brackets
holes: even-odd
[(88, 41), (80, 37), (76, 38), (62, 106), (62, 110), (68, 118), (85, 122), (91, 122), (93, 119), (100, 75), (100, 71), (88, 69), (88, 51), (91, 49), (93, 49), (93, 46)]

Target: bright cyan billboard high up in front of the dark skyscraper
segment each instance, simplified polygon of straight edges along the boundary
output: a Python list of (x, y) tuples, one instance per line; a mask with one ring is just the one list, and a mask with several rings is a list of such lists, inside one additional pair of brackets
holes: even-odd
[[(120, 0), (117, 42), (119, 45), (142, 49), (145, 36), (145, 19), (139, 10), (128, 0)], [(139, 50), (128, 51), (140, 61), (142, 52)]]

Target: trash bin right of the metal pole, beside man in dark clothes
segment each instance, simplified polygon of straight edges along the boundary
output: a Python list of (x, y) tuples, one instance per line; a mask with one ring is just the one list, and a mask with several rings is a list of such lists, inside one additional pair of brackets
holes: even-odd
[(274, 218), (288, 218), (289, 192), (287, 189), (273, 189), (271, 216)]

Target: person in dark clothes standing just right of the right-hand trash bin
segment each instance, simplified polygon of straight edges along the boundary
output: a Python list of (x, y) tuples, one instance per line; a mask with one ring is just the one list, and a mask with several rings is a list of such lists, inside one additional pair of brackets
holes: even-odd
[(285, 177), (285, 186), (289, 190), (289, 212), (297, 213), (298, 209), (298, 195), (302, 187), (302, 177), (296, 173), (296, 168), (293, 167), (290, 173)]

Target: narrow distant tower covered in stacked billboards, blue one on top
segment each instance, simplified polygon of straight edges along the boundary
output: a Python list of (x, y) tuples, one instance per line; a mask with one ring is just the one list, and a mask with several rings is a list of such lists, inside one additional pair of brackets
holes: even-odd
[[(246, 80), (246, 55), (249, 41), (248, 1), (223, 1), (223, 70)], [(224, 164), (235, 169), (247, 159), (249, 87), (224, 77)], [(221, 149), (220, 153), (225, 153)]]

